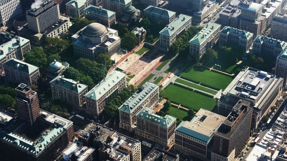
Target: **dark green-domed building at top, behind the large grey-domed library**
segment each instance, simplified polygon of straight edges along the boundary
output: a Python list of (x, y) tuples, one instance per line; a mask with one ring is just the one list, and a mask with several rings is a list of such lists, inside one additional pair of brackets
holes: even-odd
[(120, 21), (118, 21), (120, 25), (120, 29), (131, 26), (136, 22), (139, 22), (140, 12), (134, 6), (128, 5), (123, 9), (124, 15), (121, 17)]

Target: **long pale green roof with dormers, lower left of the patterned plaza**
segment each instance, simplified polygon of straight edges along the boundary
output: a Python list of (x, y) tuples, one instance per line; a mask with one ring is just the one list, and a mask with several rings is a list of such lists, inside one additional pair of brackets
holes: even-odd
[(113, 88), (119, 81), (121, 81), (126, 74), (117, 70), (110, 72), (99, 84), (91, 89), (85, 97), (98, 100), (105, 95), (111, 88)]

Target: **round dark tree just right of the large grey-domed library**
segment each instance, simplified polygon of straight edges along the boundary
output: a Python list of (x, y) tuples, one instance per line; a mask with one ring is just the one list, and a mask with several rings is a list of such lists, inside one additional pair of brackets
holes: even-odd
[(128, 32), (124, 34), (124, 38), (121, 40), (121, 48), (132, 50), (138, 44), (138, 38), (134, 33)]

